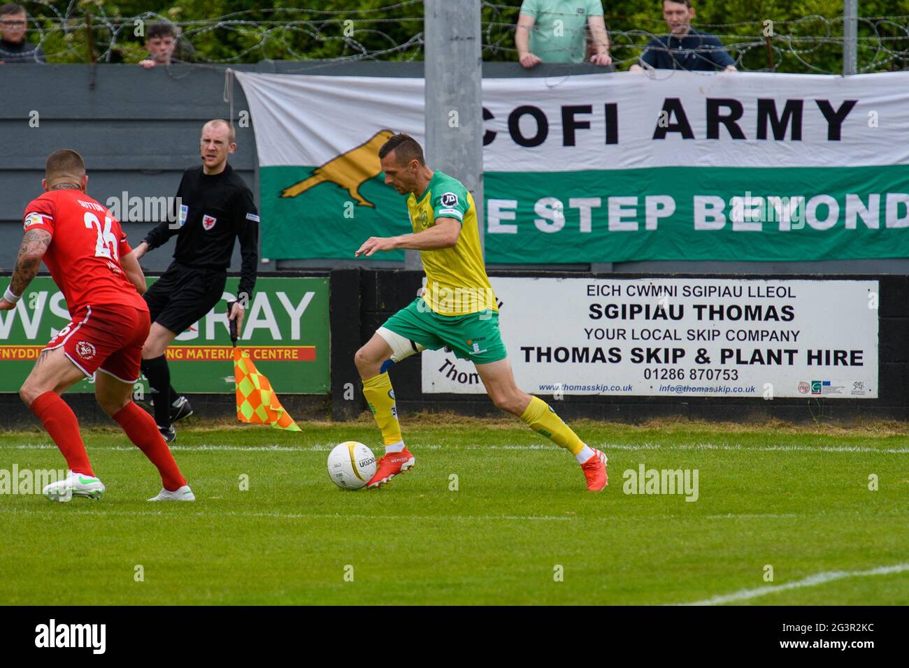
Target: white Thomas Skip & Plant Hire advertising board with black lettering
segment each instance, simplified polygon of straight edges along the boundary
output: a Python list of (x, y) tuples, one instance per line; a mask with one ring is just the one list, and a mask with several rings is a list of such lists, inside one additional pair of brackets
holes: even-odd
[[(533, 394), (879, 396), (878, 281), (491, 281), (514, 379)], [(486, 394), (474, 364), (422, 356), (425, 394)]]

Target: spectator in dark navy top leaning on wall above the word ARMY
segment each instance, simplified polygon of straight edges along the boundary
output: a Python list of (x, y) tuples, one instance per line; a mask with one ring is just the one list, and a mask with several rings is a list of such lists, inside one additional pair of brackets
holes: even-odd
[[(726, 53), (720, 38), (691, 26), (694, 18), (691, 0), (664, 0), (663, 18), (669, 26), (669, 35), (647, 42), (640, 56), (644, 66), (663, 70), (736, 71), (734, 60)], [(641, 65), (629, 68), (631, 72), (642, 69)]]

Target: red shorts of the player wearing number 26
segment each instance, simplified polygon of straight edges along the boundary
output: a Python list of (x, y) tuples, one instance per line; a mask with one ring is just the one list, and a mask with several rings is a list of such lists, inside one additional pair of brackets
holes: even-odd
[(151, 321), (147, 311), (135, 306), (86, 306), (45, 346), (63, 346), (70, 362), (86, 376), (95, 371), (114, 376), (124, 383), (139, 380), (142, 346)]

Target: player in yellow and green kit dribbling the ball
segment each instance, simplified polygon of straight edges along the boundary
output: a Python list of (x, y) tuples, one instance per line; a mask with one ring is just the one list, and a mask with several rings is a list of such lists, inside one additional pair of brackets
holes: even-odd
[(486, 276), (480, 251), (474, 198), (448, 174), (430, 169), (423, 149), (408, 135), (395, 135), (379, 149), (385, 184), (407, 195), (413, 234), (371, 236), (355, 256), (405, 248), (420, 251), (426, 271), (425, 293), (401, 309), (355, 355), (363, 394), (385, 440), (369, 488), (379, 487), (415, 462), (401, 436), (395, 391), (388, 377), (389, 360), (398, 362), (426, 348), (447, 346), (470, 360), (493, 403), (517, 415), (531, 429), (574, 454), (587, 489), (607, 484), (606, 455), (591, 448), (564, 424), (552, 408), (514, 384), (502, 337), (498, 304)]

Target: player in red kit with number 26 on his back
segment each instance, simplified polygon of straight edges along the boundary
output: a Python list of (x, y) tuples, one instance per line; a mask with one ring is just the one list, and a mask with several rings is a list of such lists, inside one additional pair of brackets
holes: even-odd
[[(95, 476), (73, 410), (60, 398), (95, 375), (95, 397), (161, 474), (164, 488), (149, 501), (195, 501), (155, 419), (132, 400), (142, 344), (150, 326), (145, 275), (110, 211), (85, 194), (82, 156), (63, 149), (47, 158), (45, 194), (25, 207), (25, 236), (0, 310), (15, 308), (44, 259), (66, 299), (72, 320), (35, 361), (19, 395), (66, 459), (66, 478), (48, 484), (52, 501), (99, 499), (105, 485)], [(100, 372), (95, 374), (95, 372)]]

